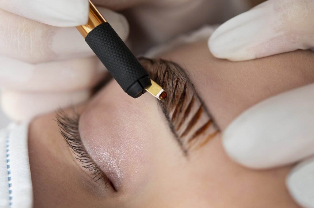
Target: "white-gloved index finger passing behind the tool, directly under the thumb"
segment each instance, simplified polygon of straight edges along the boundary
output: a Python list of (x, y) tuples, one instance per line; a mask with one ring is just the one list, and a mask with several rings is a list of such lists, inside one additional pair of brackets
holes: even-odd
[[(100, 8), (119, 36), (129, 32), (124, 16)], [(58, 28), (0, 9), (0, 55), (27, 63), (92, 56), (94, 53), (76, 28)]]

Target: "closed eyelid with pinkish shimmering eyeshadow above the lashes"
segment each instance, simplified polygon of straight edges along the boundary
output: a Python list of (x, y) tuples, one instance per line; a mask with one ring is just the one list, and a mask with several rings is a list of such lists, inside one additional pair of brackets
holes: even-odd
[[(103, 113), (99, 115), (99, 112)], [(136, 140), (138, 136), (133, 129), (128, 129), (128, 124), (111, 119), (104, 125), (103, 121), (98, 120), (103, 117), (102, 114), (110, 117), (110, 112), (105, 109), (86, 111), (81, 115), (79, 131), (90, 157), (119, 190), (122, 182), (136, 175), (143, 163), (144, 144)]]

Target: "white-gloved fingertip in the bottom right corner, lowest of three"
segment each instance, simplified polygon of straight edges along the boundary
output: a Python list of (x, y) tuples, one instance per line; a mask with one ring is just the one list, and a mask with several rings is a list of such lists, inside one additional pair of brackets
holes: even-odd
[(314, 157), (305, 160), (286, 178), (293, 199), (304, 208), (314, 208)]

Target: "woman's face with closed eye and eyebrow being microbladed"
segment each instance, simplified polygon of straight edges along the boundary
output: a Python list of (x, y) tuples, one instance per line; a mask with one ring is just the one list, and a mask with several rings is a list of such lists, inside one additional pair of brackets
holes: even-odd
[(313, 54), (234, 63), (199, 42), (160, 58), (141, 62), (167, 99), (132, 99), (111, 80), (76, 112), (32, 122), (35, 207), (297, 207), (284, 184), (290, 167), (237, 165), (221, 131), (253, 104), (312, 83)]

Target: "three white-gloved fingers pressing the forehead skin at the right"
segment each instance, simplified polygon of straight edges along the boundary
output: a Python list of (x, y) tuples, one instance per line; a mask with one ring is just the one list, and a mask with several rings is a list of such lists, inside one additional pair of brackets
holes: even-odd
[[(217, 58), (232, 61), (310, 49), (313, 17), (313, 0), (269, 0), (222, 24), (209, 48)], [(223, 145), (232, 159), (250, 168), (299, 163), (287, 187), (300, 205), (314, 208), (314, 84), (243, 112), (225, 130)]]

